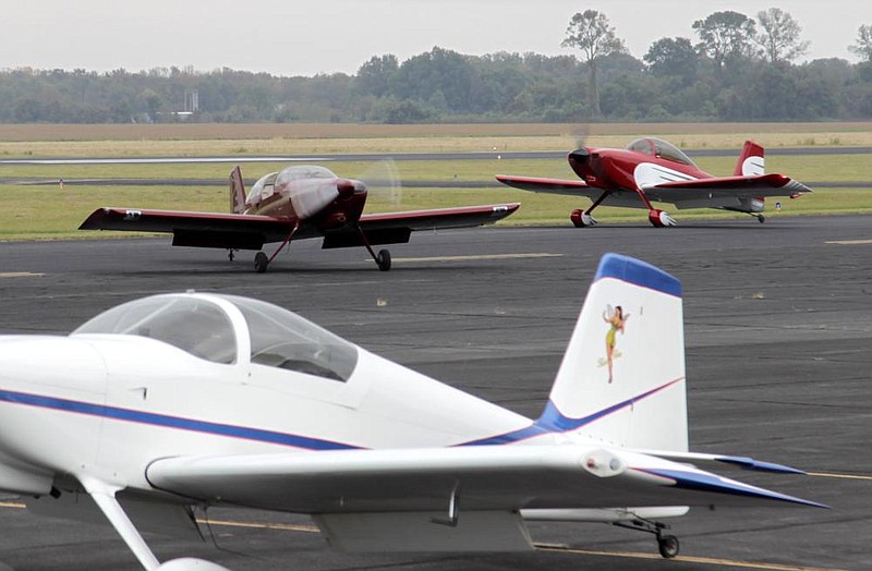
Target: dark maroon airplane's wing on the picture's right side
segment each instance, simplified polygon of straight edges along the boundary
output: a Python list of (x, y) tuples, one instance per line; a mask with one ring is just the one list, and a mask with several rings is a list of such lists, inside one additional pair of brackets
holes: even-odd
[[(447, 230), (493, 224), (512, 215), (520, 206), (520, 203), (509, 203), (405, 212), (365, 214), (360, 218), (360, 226), (371, 244), (397, 244), (409, 242), (410, 234), (420, 230)], [(360, 234), (352, 228), (344, 228), (326, 232), (323, 247), (360, 245), (363, 245)]]

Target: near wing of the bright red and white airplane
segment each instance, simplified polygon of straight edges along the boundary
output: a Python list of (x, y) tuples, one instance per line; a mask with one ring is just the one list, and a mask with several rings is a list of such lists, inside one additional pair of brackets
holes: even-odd
[(726, 201), (726, 205), (729, 206), (736, 198), (798, 196), (812, 192), (801, 182), (776, 173), (664, 182), (644, 186), (643, 190), (653, 201), (675, 205), (704, 201), (704, 206), (714, 206), (722, 201)]

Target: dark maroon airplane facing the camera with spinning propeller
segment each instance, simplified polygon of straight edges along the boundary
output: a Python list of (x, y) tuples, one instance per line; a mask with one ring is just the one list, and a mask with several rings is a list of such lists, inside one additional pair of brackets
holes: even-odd
[(230, 173), (230, 214), (136, 208), (98, 208), (80, 230), (124, 230), (172, 233), (172, 245), (257, 250), (280, 242), (267, 256), (258, 252), (258, 272), (291, 240), (324, 238), (324, 248), (363, 246), (378, 265), (390, 269), (390, 252), (376, 244), (409, 242), (416, 230), (465, 228), (489, 224), (514, 212), (519, 203), (463, 206), (405, 212), (363, 214), (366, 185), (337, 177), (317, 166), (292, 166), (262, 177), (245, 194), (240, 168)]

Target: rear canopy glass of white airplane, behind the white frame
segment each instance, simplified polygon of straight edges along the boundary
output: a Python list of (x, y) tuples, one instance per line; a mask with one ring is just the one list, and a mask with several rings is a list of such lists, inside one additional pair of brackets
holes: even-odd
[(252, 340), (252, 363), (346, 381), (358, 349), (299, 315), (247, 297), (225, 296), (242, 312)]

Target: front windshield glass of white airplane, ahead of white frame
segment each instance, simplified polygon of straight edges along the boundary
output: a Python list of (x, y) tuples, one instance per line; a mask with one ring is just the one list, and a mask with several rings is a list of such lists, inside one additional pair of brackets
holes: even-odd
[(154, 296), (112, 307), (76, 333), (148, 337), (214, 363), (237, 361), (237, 336), (227, 314), (215, 303), (196, 297)]

